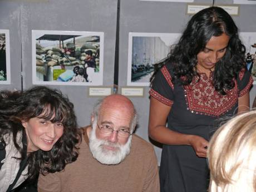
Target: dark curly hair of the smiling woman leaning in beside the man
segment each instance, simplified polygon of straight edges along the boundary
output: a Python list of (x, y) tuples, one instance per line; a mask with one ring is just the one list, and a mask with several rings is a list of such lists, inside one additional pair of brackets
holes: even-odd
[[(58, 90), (36, 86), (29, 90), (0, 92), (0, 140), (7, 134), (13, 134), (13, 142), (26, 158), (27, 146), (19, 146), (16, 140), (18, 132), (26, 134), (22, 121), (39, 117), (51, 122), (62, 122), (63, 135), (50, 151), (41, 149), (28, 155), (28, 177), (34, 179), (39, 173), (54, 173), (65, 168), (67, 163), (78, 156), (77, 144), (81, 141), (77, 129), (73, 104)], [(8, 135), (7, 135), (8, 136)], [(5, 143), (4, 143), (5, 144)]]

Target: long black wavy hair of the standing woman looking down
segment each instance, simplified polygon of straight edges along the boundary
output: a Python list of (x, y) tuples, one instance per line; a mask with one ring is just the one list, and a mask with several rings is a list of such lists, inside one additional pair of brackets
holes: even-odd
[(225, 95), (225, 90), (234, 87), (233, 78), (237, 78), (239, 71), (245, 67), (245, 46), (239, 39), (238, 28), (232, 17), (220, 7), (209, 7), (194, 14), (168, 58), (155, 65), (151, 82), (163, 65), (173, 65), (174, 83), (178, 79), (183, 85), (191, 83), (193, 77), (198, 76), (195, 70), (196, 56), (204, 50), (211, 37), (223, 33), (230, 39), (225, 55), (215, 65), (213, 85), (216, 91)]

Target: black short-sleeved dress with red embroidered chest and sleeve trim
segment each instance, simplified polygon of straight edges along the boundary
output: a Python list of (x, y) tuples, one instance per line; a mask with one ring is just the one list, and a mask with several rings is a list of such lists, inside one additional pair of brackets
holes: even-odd
[[(171, 80), (171, 66), (164, 66), (152, 83), (150, 95), (171, 106), (168, 128), (183, 134), (199, 135), (209, 140), (221, 117), (237, 113), (238, 97), (249, 91), (253, 79), (248, 71), (240, 71), (235, 87), (223, 96), (200, 73), (200, 81), (177, 85)], [(221, 146), (220, 146), (221, 147)], [(205, 158), (196, 156), (192, 146), (164, 145), (160, 165), (161, 192), (206, 192), (209, 170)]]

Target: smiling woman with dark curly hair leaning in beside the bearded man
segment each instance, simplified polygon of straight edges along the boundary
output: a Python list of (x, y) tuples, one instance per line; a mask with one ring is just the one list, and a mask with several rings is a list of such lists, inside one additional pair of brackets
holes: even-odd
[(78, 142), (73, 104), (60, 91), (39, 86), (0, 92), (1, 192), (63, 170), (77, 159)]

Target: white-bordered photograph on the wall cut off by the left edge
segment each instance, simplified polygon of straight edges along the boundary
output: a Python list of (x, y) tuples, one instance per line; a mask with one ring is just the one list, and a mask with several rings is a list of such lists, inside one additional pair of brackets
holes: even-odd
[(9, 30), (0, 29), (0, 84), (11, 83)]

